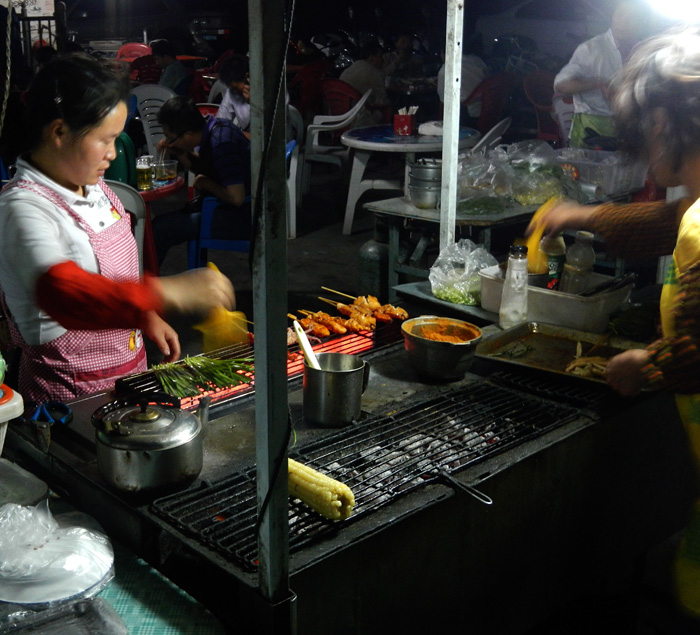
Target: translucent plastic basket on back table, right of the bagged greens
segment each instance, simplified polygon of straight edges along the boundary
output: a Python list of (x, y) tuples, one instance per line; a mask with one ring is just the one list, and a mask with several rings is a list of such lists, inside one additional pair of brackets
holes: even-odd
[(605, 196), (641, 190), (647, 177), (646, 163), (631, 161), (621, 152), (562, 148), (557, 159), (562, 165), (573, 165), (581, 183), (599, 186)]

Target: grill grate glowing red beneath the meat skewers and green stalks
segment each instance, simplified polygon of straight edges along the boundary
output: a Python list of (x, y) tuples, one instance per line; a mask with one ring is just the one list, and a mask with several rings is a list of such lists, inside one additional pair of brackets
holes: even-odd
[[(362, 355), (370, 351), (395, 344), (401, 339), (401, 331), (398, 323), (378, 326), (374, 331), (362, 331), (337, 337), (327, 338), (320, 344), (316, 344), (313, 349), (317, 353), (348, 353), (350, 355)], [(208, 356), (216, 359), (245, 359), (252, 358), (254, 348), (252, 343), (239, 344), (228, 348), (219, 349), (208, 353)], [(291, 381), (301, 377), (304, 372), (304, 358), (298, 344), (293, 344), (287, 352), (287, 377)], [(200, 400), (205, 396), (211, 397), (211, 405), (228, 403), (251, 394), (255, 388), (255, 379), (251, 373), (246, 373), (251, 377), (250, 383), (238, 384), (226, 388), (217, 388), (207, 392), (202, 392), (196, 397), (184, 397), (180, 399), (180, 408), (191, 410), (197, 407)], [(115, 391), (118, 396), (130, 395), (134, 393), (162, 392), (163, 388), (152, 371), (130, 375), (118, 379), (115, 384)]]

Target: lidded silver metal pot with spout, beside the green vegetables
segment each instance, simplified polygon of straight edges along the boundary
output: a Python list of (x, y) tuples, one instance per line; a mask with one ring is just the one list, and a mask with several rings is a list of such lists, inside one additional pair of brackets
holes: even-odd
[(180, 410), (169, 395), (151, 393), (117, 399), (92, 415), (97, 466), (115, 489), (135, 493), (175, 490), (194, 481), (202, 470), (200, 417)]

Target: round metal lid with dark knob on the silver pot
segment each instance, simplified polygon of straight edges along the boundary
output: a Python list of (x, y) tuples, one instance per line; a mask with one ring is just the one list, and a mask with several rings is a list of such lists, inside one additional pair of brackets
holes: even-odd
[(161, 393), (111, 401), (95, 411), (92, 423), (100, 442), (121, 450), (166, 450), (188, 443), (202, 430), (196, 415)]

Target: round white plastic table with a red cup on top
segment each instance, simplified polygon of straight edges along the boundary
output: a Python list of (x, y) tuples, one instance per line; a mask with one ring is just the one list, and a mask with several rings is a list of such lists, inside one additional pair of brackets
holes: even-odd
[[(478, 130), (460, 128), (459, 147), (471, 148), (479, 140)], [(348, 200), (345, 205), (345, 220), (343, 234), (348, 235), (352, 230), (352, 220), (355, 206), (364, 192), (368, 190), (403, 190), (404, 185), (398, 181), (384, 179), (363, 179), (367, 162), (372, 152), (400, 152), (406, 155), (406, 172), (408, 166), (415, 160), (419, 152), (442, 152), (442, 137), (433, 135), (397, 135), (390, 124), (355, 128), (343, 133), (341, 142), (350, 148), (352, 153), (352, 168), (350, 171), (350, 186)], [(404, 179), (404, 182), (406, 179)]]

